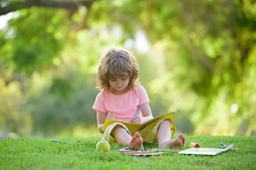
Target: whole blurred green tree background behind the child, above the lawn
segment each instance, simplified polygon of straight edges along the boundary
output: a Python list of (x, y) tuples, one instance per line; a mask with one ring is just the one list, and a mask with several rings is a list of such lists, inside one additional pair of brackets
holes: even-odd
[(256, 135), (254, 0), (0, 0), (0, 136), (91, 137), (101, 55), (137, 57), (178, 133)]

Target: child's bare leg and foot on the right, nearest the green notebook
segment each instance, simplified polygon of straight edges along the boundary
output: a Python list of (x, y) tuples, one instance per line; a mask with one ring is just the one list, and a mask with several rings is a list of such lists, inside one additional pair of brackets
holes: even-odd
[(171, 122), (164, 120), (158, 127), (157, 131), (157, 143), (158, 148), (173, 148), (182, 147), (185, 144), (185, 137), (183, 133), (178, 135), (175, 139), (171, 139)]

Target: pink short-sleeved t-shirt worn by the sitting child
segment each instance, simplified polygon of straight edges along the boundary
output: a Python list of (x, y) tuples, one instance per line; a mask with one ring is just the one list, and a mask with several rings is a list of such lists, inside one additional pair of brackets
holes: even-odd
[[(146, 102), (150, 102), (148, 94), (144, 87), (140, 85), (137, 89), (131, 88), (121, 95), (101, 91), (97, 95), (92, 109), (103, 111), (107, 114), (113, 111), (116, 120), (129, 122), (139, 107)], [(141, 111), (139, 111), (138, 115), (141, 116)]]

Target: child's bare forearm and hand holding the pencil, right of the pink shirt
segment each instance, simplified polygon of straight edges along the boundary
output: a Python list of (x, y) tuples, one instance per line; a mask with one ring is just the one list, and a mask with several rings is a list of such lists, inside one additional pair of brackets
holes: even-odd
[(144, 122), (150, 119), (153, 119), (152, 112), (148, 102), (144, 103), (144, 107), (142, 107), (141, 109), (141, 114), (142, 114), (142, 117), (139, 115), (133, 116), (130, 120), (130, 123), (143, 124)]

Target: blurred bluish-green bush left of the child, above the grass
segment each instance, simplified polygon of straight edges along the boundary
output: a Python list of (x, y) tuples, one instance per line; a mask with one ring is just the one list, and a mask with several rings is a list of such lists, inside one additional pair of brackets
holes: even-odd
[[(51, 89), (44, 89), (40, 94), (33, 95), (27, 102), (31, 116), (34, 118), (33, 131), (44, 135), (54, 136), (62, 131), (70, 131), (78, 124), (85, 127), (96, 122), (96, 113), (92, 109), (97, 89), (94, 81), (83, 86), (81, 77), (74, 77), (72, 83), (53, 81)], [(94, 76), (83, 76), (90, 80)], [(64, 82), (67, 80), (64, 80)], [(70, 82), (70, 81), (69, 81)], [(58, 84), (60, 83), (60, 84)], [(45, 126), (47, 122), (47, 126)]]

